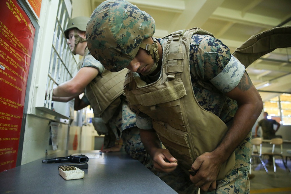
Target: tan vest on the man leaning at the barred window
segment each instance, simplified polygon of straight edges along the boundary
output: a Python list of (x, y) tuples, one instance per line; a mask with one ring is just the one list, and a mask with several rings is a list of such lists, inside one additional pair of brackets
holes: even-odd
[[(87, 52), (84, 56), (86, 57)], [(123, 82), (127, 69), (112, 73), (104, 69), (101, 75), (97, 75), (85, 88), (94, 117), (101, 117), (107, 123), (117, 110), (123, 94)]]

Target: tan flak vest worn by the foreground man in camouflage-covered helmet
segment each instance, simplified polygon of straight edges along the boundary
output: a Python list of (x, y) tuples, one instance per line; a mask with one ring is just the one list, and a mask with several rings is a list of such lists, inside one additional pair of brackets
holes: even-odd
[[(168, 36), (163, 48), (159, 79), (146, 85), (137, 73), (128, 72), (124, 90), (129, 103), (152, 118), (153, 128), (163, 145), (178, 159), (186, 173), (194, 160), (219, 145), (228, 128), (197, 102), (190, 78), (189, 44), (192, 34), (208, 34), (195, 28)], [(213, 36), (213, 35), (212, 35)], [(221, 165), (217, 180), (235, 166), (235, 154)]]

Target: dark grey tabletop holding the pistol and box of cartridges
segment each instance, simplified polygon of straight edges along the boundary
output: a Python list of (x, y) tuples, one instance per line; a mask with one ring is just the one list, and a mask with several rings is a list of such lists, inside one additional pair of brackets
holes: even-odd
[[(93, 151), (60, 151), (47, 156), (69, 156)], [(58, 165), (42, 163), (42, 159), (0, 173), (0, 193), (176, 193), (159, 177), (125, 152), (102, 153), (100, 158), (90, 158), (83, 179), (65, 180)]]

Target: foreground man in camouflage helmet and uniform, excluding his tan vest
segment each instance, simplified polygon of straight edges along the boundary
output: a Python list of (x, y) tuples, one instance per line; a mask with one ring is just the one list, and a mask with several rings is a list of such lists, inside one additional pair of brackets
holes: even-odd
[[(134, 79), (140, 78), (146, 85), (160, 79), (162, 61), (168, 60), (164, 56), (160, 58), (168, 39), (156, 41), (152, 37), (154, 31), (155, 22), (150, 15), (127, 1), (117, 0), (104, 1), (95, 9), (87, 25), (86, 36), (90, 52), (107, 70), (118, 72), (126, 67), (137, 72)], [(144, 50), (152, 56), (149, 65)], [(162, 180), (169, 185), (171, 181), (180, 184), (181, 187), (175, 189), (178, 193), (196, 193), (194, 185), (201, 188), (201, 193), (249, 193), (250, 130), (262, 110), (260, 95), (246, 74), (244, 65), (230, 54), (227, 46), (211, 36), (192, 35), (189, 66), (197, 102), (222, 120), (228, 126), (228, 132), (216, 149), (197, 157), (191, 167), (191, 170), (198, 170), (194, 176), (189, 176), (180, 165), (177, 166), (175, 158), (169, 156), (167, 151), (148, 142), (143, 143), (149, 146), (148, 151), (154, 157), (155, 164), (159, 165), (159, 170), (166, 172), (172, 169), (174, 177), (168, 174)], [(125, 91), (126, 87), (127, 83)], [(145, 117), (139, 108), (130, 106), (137, 114), (137, 126), (143, 129), (141, 136), (148, 141), (156, 139), (152, 133), (151, 118)], [(224, 162), (218, 160), (228, 159), (232, 152), (236, 161), (233, 170), (223, 179), (216, 180), (220, 165)]]

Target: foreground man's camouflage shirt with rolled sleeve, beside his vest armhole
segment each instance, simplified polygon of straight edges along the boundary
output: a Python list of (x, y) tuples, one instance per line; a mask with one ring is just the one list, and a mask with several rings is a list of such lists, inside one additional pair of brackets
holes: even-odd
[(192, 36), (189, 61), (198, 103), (228, 122), (237, 110), (237, 103), (224, 94), (237, 86), (245, 72), (244, 65), (231, 56), (220, 40), (208, 35)]

